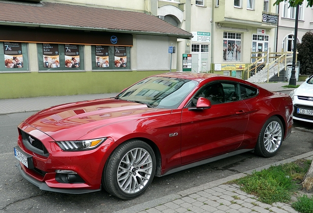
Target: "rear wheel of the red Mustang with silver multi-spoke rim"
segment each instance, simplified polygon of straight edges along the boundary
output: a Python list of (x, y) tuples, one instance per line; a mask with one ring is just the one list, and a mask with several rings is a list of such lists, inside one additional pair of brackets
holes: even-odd
[(254, 152), (262, 157), (276, 155), (283, 140), (282, 121), (277, 116), (270, 117), (263, 125)]

